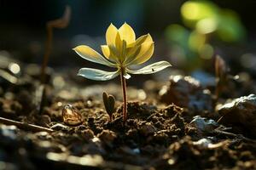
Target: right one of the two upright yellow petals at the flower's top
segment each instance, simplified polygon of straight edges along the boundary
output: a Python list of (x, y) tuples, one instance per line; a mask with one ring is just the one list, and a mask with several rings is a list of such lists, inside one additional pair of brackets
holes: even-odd
[(119, 33), (120, 33), (121, 39), (125, 40), (126, 44), (135, 42), (135, 38), (136, 38), (135, 32), (133, 31), (131, 26), (126, 24), (126, 22), (125, 24), (123, 24), (123, 26), (119, 28)]

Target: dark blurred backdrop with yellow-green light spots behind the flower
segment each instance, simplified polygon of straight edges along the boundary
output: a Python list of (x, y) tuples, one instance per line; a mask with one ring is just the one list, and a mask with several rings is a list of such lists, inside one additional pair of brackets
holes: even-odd
[[(54, 30), (52, 67), (93, 65), (71, 50), (87, 44), (100, 50), (110, 23), (125, 21), (137, 36), (150, 33), (154, 60), (169, 60), (184, 72), (212, 71), (214, 56), (222, 56), (232, 71), (256, 69), (256, 1), (216, 0), (0, 0), (0, 54), (25, 63), (41, 63), (45, 24), (72, 8), (69, 26)], [(150, 62), (150, 61), (149, 61)]]

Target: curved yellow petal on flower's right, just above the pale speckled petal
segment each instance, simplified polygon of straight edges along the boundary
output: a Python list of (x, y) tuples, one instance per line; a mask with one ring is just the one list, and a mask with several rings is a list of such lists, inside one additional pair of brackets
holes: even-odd
[(140, 52), (137, 57), (131, 61), (129, 65), (140, 65), (151, 58), (154, 53), (154, 42), (144, 42), (141, 45)]

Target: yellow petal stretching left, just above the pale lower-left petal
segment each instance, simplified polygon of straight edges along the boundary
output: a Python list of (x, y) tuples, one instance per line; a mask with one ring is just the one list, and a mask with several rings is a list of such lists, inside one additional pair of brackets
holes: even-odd
[(91, 62), (115, 67), (113, 63), (108, 61), (108, 59), (105, 59), (101, 54), (98, 54), (94, 49), (90, 48), (89, 46), (80, 45), (76, 48), (73, 48), (73, 50), (77, 54), (79, 54), (79, 56)]

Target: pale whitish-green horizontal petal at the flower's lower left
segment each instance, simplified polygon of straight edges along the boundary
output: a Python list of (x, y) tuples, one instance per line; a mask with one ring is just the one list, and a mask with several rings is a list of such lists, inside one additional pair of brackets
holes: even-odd
[(85, 77), (90, 80), (106, 81), (119, 76), (119, 70), (110, 72), (92, 68), (82, 68), (79, 70), (78, 76)]

